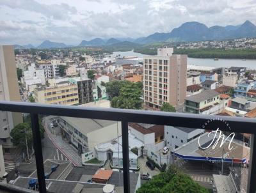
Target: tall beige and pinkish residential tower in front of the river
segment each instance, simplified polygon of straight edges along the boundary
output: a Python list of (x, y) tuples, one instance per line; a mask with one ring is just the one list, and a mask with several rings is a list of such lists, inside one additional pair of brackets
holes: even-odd
[(184, 103), (187, 90), (187, 56), (173, 54), (173, 48), (157, 49), (157, 56), (144, 56), (144, 102), (159, 109), (166, 102)]

